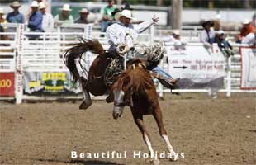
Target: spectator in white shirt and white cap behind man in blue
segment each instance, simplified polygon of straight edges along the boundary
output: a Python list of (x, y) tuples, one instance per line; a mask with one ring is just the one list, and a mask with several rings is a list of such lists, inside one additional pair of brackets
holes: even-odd
[(46, 5), (44, 2), (39, 3), (39, 10), (43, 15), (42, 29), (45, 32), (54, 31), (54, 17), (46, 12)]

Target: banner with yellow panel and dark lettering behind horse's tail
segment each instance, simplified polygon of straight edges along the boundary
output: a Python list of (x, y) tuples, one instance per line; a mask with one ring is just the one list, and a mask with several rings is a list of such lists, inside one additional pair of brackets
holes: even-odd
[(24, 94), (28, 95), (78, 95), (81, 88), (73, 86), (69, 72), (25, 72)]

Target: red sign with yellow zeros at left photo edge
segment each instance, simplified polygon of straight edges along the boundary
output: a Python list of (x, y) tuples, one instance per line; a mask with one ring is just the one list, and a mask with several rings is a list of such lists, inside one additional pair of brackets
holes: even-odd
[(14, 73), (0, 73), (0, 96), (14, 96)]

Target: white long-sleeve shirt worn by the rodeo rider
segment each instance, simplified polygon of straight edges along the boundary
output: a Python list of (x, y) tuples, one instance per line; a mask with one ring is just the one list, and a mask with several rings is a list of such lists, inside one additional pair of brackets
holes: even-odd
[[(145, 31), (149, 26), (153, 25), (153, 21), (144, 21), (138, 25), (129, 24), (124, 26), (121, 22), (117, 22), (107, 28), (107, 41), (110, 45), (109, 50), (116, 50), (116, 47), (121, 44), (133, 47), (133, 40), (137, 40), (139, 33)], [(126, 36), (126, 34), (129, 34)]]

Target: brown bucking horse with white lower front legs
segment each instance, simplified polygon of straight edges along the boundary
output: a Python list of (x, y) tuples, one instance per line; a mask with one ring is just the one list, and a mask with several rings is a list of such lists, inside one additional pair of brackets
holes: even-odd
[[(78, 64), (82, 65), (82, 55), (86, 51), (92, 51), (92, 53), (98, 54), (98, 56), (89, 68), (88, 78), (83, 78), (78, 72), (76, 60)], [(80, 106), (88, 108), (88, 106), (92, 105), (89, 92), (94, 96), (101, 96), (106, 92), (113, 93), (113, 99), (111, 100), (114, 101), (113, 118), (118, 119), (121, 117), (124, 107), (130, 106), (135, 124), (138, 126), (149, 149), (150, 162), (157, 165), (159, 164), (159, 159), (152, 148), (149, 133), (145, 130), (143, 115), (154, 116), (159, 128), (159, 134), (164, 139), (168, 148), (167, 158), (171, 160), (178, 159), (179, 155), (173, 150), (173, 146), (164, 129), (158, 94), (154, 86), (152, 74), (149, 72), (149, 67), (154, 68), (159, 62), (153, 62), (149, 59), (148, 61), (147, 59), (130, 59), (126, 63), (126, 69), (117, 68), (114, 72), (109, 71), (113, 66), (120, 66), (116, 65), (118, 60), (121, 60), (118, 58), (118, 54), (104, 51), (102, 45), (97, 40), (82, 40), (81, 43), (74, 45), (66, 52), (64, 63), (73, 76), (73, 82), (82, 82), (84, 95), (87, 95), (85, 97), (89, 98), (89, 100), (86, 100), (85, 105), (82, 103)], [(115, 76), (116, 71), (117, 75)]]

